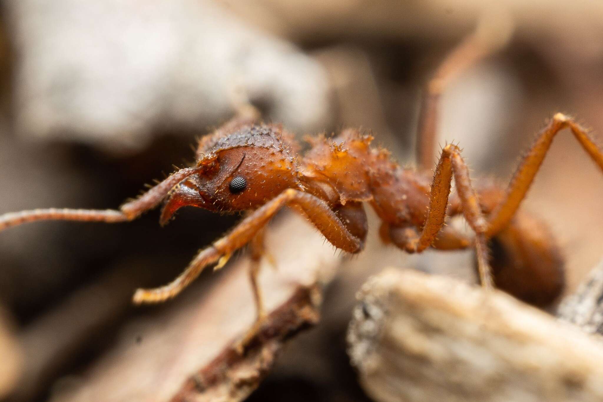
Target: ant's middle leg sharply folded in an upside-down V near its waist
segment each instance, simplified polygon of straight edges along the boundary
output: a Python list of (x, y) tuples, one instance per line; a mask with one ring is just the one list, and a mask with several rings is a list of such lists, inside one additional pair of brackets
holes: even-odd
[[(431, 184), (428, 215), (421, 233), (417, 234), (414, 228), (394, 228), (394, 230), (390, 230), (392, 239), (397, 244), (400, 243), (409, 253), (420, 253), (434, 243), (446, 218), (453, 174), (463, 207), (463, 216), (475, 232), (475, 248), (480, 281), (482, 286), (491, 287), (492, 277), (488, 265), (488, 249), (485, 237), (487, 223), (479, 206), (478, 195), (472, 187), (469, 169), (463, 157), (461, 157), (461, 150), (456, 145), (446, 145), (440, 155), (440, 160), (435, 169), (434, 181)], [(399, 237), (399, 239), (396, 241), (395, 237)]]

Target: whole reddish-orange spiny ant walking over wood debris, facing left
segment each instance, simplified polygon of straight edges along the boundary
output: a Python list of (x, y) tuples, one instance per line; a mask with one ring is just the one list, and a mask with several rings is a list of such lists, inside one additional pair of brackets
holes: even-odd
[[(180, 169), (119, 210), (36, 209), (0, 216), (0, 231), (26, 222), (126, 222), (165, 201), (160, 224), (184, 206), (215, 212), (247, 211), (235, 228), (201, 250), (174, 281), (156, 289), (138, 289), (134, 303), (159, 303), (180, 293), (209, 265), (221, 268), (232, 253), (250, 245), (250, 279), (256, 324), (265, 317), (257, 285), (263, 254), (264, 227), (283, 207), (304, 215), (336, 248), (359, 253), (367, 236), (364, 203), (376, 211), (380, 237), (407, 253), (428, 248), (475, 247), (482, 286), (497, 287), (533, 304), (545, 305), (564, 286), (563, 259), (546, 225), (517, 209), (525, 198), (551, 142), (569, 128), (603, 171), (603, 149), (572, 118), (557, 113), (538, 134), (505, 189), (472, 183), (458, 145), (441, 151), (435, 172), (436, 121), (440, 94), (463, 69), (502, 43), (484, 39), (479, 29), (458, 45), (429, 81), (419, 118), (418, 168), (403, 169), (386, 149), (373, 148), (373, 137), (355, 129), (336, 137), (308, 138), (303, 155), (291, 133), (280, 125), (257, 121), (247, 110), (200, 139), (196, 164)], [(452, 178), (456, 192), (450, 196)], [(461, 232), (447, 219), (462, 215), (473, 234)], [(493, 252), (489, 253), (488, 250)]]

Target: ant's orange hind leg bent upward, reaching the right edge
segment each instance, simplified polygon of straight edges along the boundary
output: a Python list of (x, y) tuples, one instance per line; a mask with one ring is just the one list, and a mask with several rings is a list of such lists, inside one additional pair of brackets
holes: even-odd
[(519, 204), (525, 198), (529, 186), (538, 172), (538, 168), (545, 159), (546, 152), (551, 146), (552, 140), (563, 128), (569, 128), (576, 137), (582, 148), (590, 155), (599, 168), (603, 171), (603, 147), (598, 145), (592, 136), (580, 127), (575, 121), (562, 113), (553, 116), (552, 121), (542, 130), (532, 147), (525, 154), (519, 167), (511, 179), (504, 199), (498, 204), (488, 217), (487, 237), (493, 237), (500, 233), (515, 215)]

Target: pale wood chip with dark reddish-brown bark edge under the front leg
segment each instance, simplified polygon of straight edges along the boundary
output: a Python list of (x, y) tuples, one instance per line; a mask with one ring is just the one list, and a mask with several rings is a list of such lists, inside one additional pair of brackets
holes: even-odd
[[(292, 234), (293, 233), (293, 234)], [(298, 217), (267, 233), (277, 269), (260, 275), (269, 316), (244, 356), (237, 341), (253, 323), (248, 260), (218, 283), (191, 289), (167, 309), (131, 325), (72, 389), (53, 401), (239, 401), (267, 374), (287, 339), (318, 319), (320, 283), (339, 261)], [(266, 262), (267, 265), (270, 265)], [(151, 309), (157, 312), (157, 307)]]

